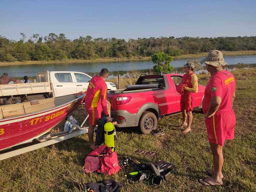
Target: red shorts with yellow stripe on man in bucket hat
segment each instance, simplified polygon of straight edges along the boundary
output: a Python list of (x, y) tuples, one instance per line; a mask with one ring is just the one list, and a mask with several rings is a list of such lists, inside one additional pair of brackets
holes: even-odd
[(226, 139), (234, 139), (236, 116), (234, 111), (217, 112), (213, 117), (205, 119), (208, 140), (224, 146)]

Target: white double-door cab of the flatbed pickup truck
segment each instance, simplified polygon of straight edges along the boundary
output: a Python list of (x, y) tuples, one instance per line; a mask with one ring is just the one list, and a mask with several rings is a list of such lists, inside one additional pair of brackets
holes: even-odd
[[(88, 74), (74, 71), (50, 71), (49, 78), (53, 90), (53, 97), (85, 91), (92, 79)], [(117, 89), (114, 83), (106, 82), (106, 84), (108, 90)]]

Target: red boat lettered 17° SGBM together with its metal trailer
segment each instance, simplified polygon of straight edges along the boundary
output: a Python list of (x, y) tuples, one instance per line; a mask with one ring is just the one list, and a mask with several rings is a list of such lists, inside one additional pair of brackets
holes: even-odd
[(0, 160), (34, 149), (60, 142), (88, 132), (67, 118), (73, 127), (70, 131), (46, 134), (78, 105), (84, 102), (85, 94), (71, 94), (24, 103), (0, 106), (0, 151), (16, 145), (38, 140), (39, 143), (15, 151), (0, 154)]

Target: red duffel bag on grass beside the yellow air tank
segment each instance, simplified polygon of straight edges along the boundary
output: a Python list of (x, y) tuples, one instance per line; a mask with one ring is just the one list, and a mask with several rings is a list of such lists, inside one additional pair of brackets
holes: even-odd
[(90, 173), (97, 171), (98, 173), (106, 173), (113, 175), (120, 171), (117, 153), (106, 145), (101, 145), (87, 155), (84, 160), (84, 171)]

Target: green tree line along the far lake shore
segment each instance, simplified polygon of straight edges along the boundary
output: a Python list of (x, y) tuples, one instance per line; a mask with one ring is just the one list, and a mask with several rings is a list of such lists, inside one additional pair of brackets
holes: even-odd
[(170, 56), (220, 51), (256, 50), (256, 36), (251, 37), (150, 37), (124, 39), (93, 38), (80, 36), (75, 40), (66, 38), (64, 33), (40, 37), (33, 34), (26, 41), (26, 34), (20, 33), (19, 41), (0, 35), (0, 61), (39, 61), (66, 59), (97, 59), (104, 57), (144, 57), (154, 53), (167, 53)]

